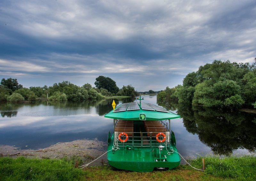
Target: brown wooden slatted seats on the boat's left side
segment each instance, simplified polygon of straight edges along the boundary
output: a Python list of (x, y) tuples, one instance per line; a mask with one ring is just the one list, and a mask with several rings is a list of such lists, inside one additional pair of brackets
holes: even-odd
[(119, 120), (116, 123), (115, 131), (127, 133), (129, 137), (132, 137), (133, 121), (132, 120)]

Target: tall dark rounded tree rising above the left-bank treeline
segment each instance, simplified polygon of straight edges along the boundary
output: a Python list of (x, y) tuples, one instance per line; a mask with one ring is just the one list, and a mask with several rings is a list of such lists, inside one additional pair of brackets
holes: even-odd
[(98, 76), (94, 84), (98, 89), (103, 88), (111, 93), (116, 94), (119, 91), (119, 88), (116, 86), (116, 82), (109, 77)]

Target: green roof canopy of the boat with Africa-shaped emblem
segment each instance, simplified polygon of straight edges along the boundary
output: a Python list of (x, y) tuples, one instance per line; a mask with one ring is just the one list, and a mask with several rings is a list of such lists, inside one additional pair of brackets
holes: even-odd
[[(128, 104), (129, 103), (125, 103)], [(145, 103), (150, 106), (156, 106), (152, 104)], [(124, 104), (122, 104), (124, 105)], [(122, 105), (119, 105), (117, 108), (120, 108)], [(180, 118), (180, 115), (169, 112), (167, 110), (163, 111), (164, 109), (156, 106), (154, 107), (154, 110), (145, 110), (140, 107), (138, 104), (138, 110), (127, 110), (127, 107), (124, 106), (123, 111), (116, 111), (117, 108), (107, 114), (104, 115), (105, 118), (112, 118), (112, 119), (124, 119), (124, 120), (165, 120), (165, 119), (175, 119), (175, 118)], [(126, 107), (126, 108), (125, 108)], [(157, 111), (158, 108), (161, 109), (162, 111)]]

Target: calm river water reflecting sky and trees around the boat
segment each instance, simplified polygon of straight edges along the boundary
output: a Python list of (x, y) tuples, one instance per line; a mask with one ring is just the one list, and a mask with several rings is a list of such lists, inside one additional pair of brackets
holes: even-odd
[[(104, 118), (104, 114), (112, 110), (112, 101), (1, 103), (0, 145), (39, 149), (78, 139), (107, 141), (108, 131), (113, 132), (113, 120)], [(133, 101), (115, 99), (117, 105)], [(156, 105), (156, 96), (144, 96), (144, 102)], [(164, 107), (182, 117), (171, 120), (182, 156), (255, 152), (255, 114), (188, 105)]]

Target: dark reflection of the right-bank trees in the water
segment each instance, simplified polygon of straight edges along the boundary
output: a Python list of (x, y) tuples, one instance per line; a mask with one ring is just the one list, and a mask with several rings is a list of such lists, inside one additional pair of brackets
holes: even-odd
[(238, 148), (256, 151), (256, 115), (238, 110), (222, 110), (190, 104), (158, 103), (177, 110), (184, 127), (209, 146), (214, 154), (230, 155)]

